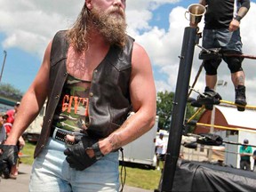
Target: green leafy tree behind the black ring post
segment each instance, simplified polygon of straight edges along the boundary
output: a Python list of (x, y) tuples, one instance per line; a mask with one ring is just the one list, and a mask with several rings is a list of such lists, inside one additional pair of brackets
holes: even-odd
[[(172, 101), (174, 100), (174, 92), (157, 92), (156, 98), (156, 115), (159, 116), (158, 127), (159, 129), (169, 130), (171, 127), (172, 121)], [(186, 119), (193, 116), (196, 112), (196, 109), (191, 107), (189, 103), (187, 103), (186, 108)], [(195, 117), (198, 119), (199, 115)], [(192, 128), (192, 129), (191, 129)], [(189, 132), (193, 130), (193, 127), (190, 127)]]

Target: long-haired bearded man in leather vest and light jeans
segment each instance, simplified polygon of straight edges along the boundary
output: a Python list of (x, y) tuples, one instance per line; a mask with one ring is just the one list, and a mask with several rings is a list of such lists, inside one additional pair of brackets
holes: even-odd
[(13, 149), (47, 99), (31, 192), (119, 191), (118, 149), (155, 124), (151, 63), (125, 33), (125, 7), (85, 0), (74, 26), (48, 44), (4, 146)]

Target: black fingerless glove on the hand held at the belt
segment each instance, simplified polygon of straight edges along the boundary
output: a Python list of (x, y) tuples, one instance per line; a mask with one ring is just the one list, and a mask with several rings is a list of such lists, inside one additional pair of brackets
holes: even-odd
[(95, 156), (92, 158), (86, 153), (87, 148), (91, 148), (98, 140), (93, 140), (88, 136), (76, 137), (75, 144), (68, 146), (64, 151), (67, 156), (66, 160), (70, 167), (75, 168), (78, 171), (83, 171), (87, 167), (94, 164), (97, 159)]

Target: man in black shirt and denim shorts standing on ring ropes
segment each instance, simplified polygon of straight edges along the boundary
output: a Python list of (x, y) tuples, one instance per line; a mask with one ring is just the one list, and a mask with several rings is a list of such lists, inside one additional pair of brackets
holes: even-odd
[[(199, 4), (207, 6), (204, 15), (203, 47), (207, 50), (221, 48), (220, 52), (223, 54), (242, 54), (240, 22), (250, 8), (250, 0), (200, 0)], [(245, 75), (242, 68), (244, 58), (222, 55), (222, 59), (228, 64), (231, 73), (236, 92), (235, 103), (244, 107), (247, 104)], [(214, 91), (220, 62), (221, 58), (204, 60), (206, 72), (204, 94), (211, 95), (215, 100), (222, 100), (220, 94)], [(243, 107), (237, 109), (244, 111)], [(205, 108), (212, 110), (212, 105), (205, 105)]]

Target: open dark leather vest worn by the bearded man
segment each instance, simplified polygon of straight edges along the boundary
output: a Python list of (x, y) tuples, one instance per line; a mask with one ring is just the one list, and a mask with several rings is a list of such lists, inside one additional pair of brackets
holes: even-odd
[[(93, 71), (89, 98), (90, 125), (87, 131), (94, 138), (105, 138), (118, 129), (132, 109), (129, 92), (132, 46), (133, 39), (130, 36), (128, 36), (124, 49), (111, 46), (105, 59)], [(35, 157), (38, 156), (48, 140), (52, 117), (68, 76), (67, 52), (66, 31), (59, 31), (52, 41), (48, 101)]]

